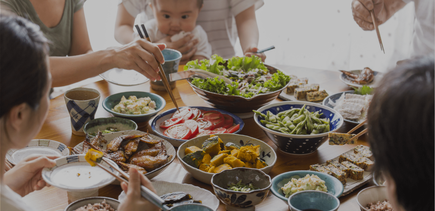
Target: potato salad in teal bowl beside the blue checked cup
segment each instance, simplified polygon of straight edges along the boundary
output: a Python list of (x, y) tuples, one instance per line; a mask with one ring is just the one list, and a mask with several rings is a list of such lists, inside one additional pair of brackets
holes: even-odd
[(130, 96), (128, 99), (122, 96), (121, 102), (112, 109), (112, 111), (121, 114), (147, 114), (155, 112), (156, 102), (151, 100), (150, 97), (137, 98), (136, 96)]

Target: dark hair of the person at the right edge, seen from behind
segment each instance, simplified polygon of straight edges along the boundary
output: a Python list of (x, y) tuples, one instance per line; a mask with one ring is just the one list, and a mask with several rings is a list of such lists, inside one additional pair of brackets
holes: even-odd
[(434, 66), (425, 57), (387, 73), (368, 109), (376, 170), (394, 179), (407, 211), (434, 210)]

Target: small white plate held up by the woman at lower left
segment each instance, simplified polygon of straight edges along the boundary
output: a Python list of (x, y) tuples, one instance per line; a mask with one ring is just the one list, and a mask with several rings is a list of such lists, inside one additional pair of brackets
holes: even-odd
[[(42, 178), (48, 184), (66, 191), (92, 191), (109, 185), (115, 178), (97, 166), (90, 166), (85, 160), (84, 154), (70, 155), (67, 157), (57, 158), (56, 166), (53, 168), (43, 168)], [(115, 162), (104, 158), (105, 161)], [(110, 167), (106, 162), (101, 162), (107, 168), (118, 175), (118, 171)]]

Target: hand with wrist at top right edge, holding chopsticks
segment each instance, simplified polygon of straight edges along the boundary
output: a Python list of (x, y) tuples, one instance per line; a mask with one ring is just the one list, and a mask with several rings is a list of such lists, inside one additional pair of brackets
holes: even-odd
[(380, 25), (405, 5), (402, 0), (353, 0), (352, 15), (363, 30), (375, 30), (370, 10), (374, 10), (377, 23)]

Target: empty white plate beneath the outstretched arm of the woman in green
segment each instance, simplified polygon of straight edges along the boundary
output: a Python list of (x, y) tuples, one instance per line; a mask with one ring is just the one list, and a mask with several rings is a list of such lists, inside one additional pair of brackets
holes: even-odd
[(109, 69), (100, 74), (101, 78), (120, 86), (134, 86), (149, 81), (147, 77), (138, 73), (136, 70), (128, 69)]

